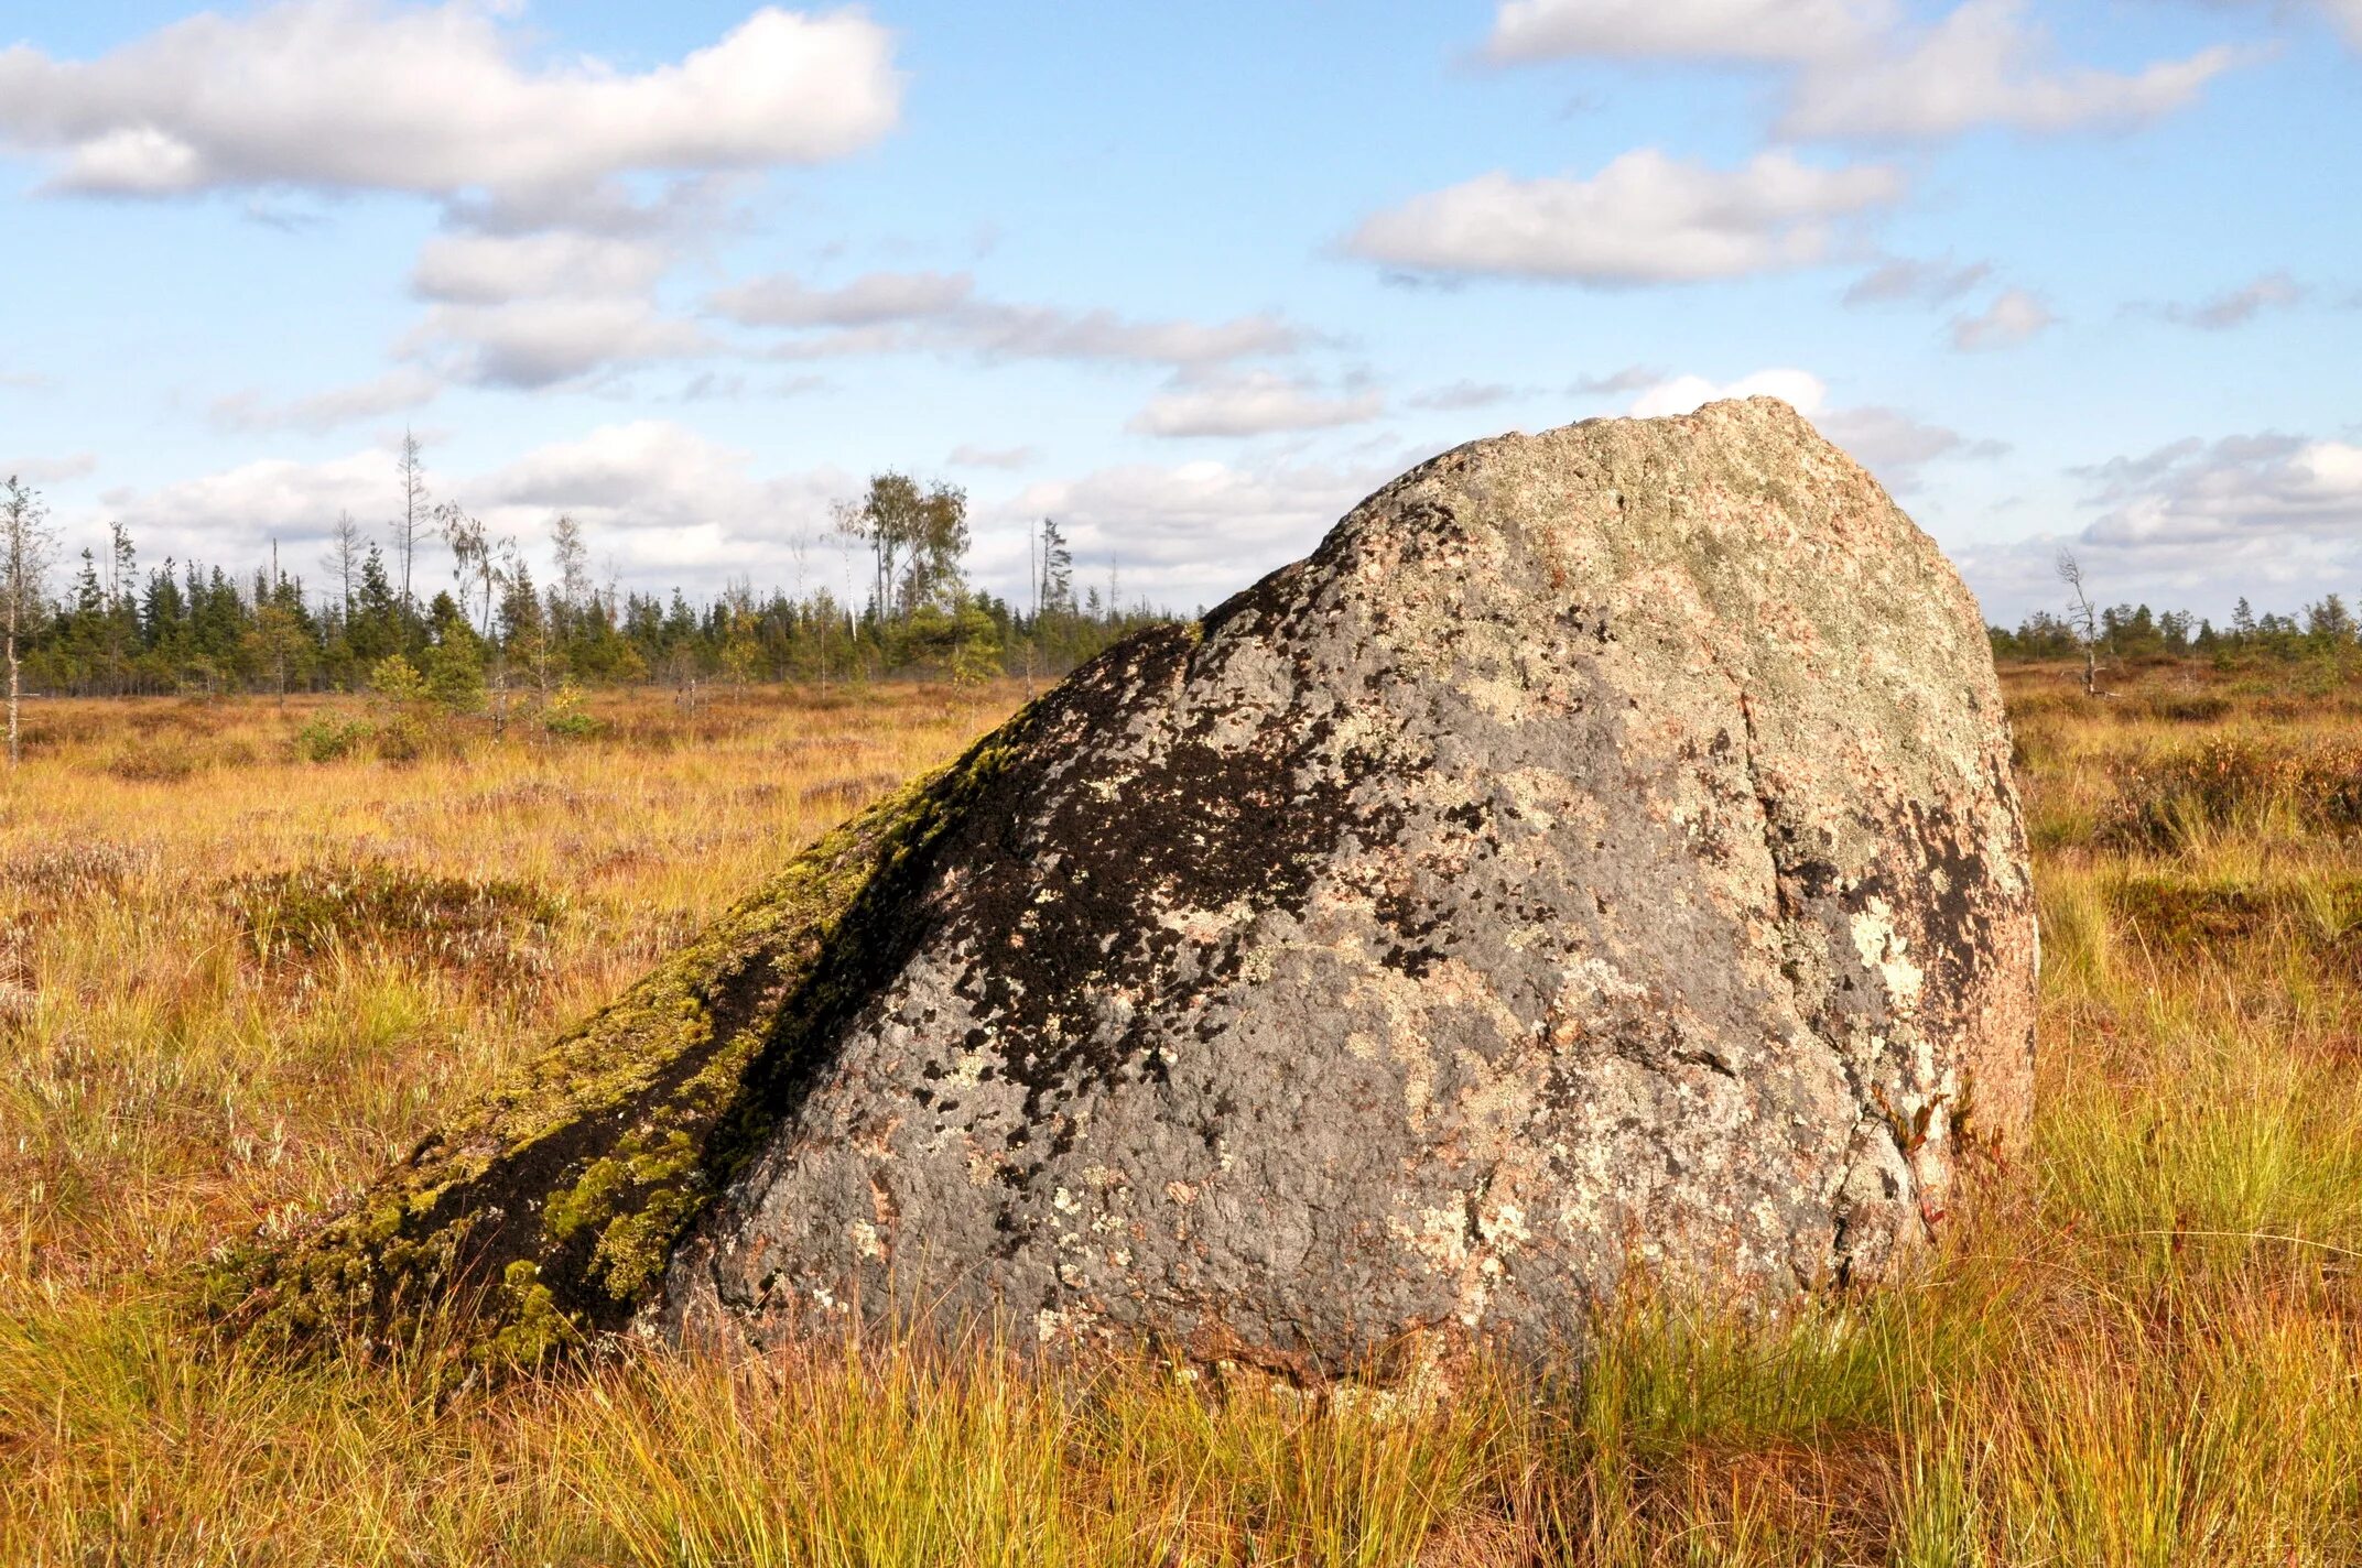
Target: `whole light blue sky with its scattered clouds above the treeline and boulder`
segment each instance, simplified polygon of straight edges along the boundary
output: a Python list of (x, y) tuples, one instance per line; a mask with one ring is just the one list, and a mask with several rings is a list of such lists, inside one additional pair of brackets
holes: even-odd
[[(874, 468), (1212, 605), (1443, 446), (1790, 397), (1989, 616), (2362, 590), (2362, 0), (286, 0), (0, 21), (0, 468), (635, 586)], [(446, 562), (420, 560), (423, 581)]]

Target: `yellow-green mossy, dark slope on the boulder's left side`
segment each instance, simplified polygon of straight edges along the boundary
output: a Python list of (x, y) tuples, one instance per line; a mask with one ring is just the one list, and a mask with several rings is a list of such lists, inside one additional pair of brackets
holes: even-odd
[(907, 947), (907, 890), (1027, 723), (813, 843), (305, 1237), (217, 1261), (210, 1308), (291, 1351), (432, 1346), (461, 1370), (624, 1327), (775, 1089)]

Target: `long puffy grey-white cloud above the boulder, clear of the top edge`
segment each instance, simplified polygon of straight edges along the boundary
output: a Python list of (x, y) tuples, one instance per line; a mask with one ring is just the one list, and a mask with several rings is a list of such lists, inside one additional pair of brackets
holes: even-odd
[(1828, 260), (1842, 220), (1890, 205), (1887, 165), (1762, 153), (1736, 170), (1630, 151), (1590, 179), (1479, 175), (1372, 215), (1356, 255), (1415, 272), (1580, 283), (1734, 279)]

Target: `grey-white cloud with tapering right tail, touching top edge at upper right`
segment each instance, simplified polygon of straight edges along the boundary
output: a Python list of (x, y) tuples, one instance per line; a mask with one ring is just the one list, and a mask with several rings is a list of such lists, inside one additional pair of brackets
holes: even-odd
[(1864, 59), (1807, 71), (1781, 116), (1786, 137), (1949, 137), (1975, 125), (2029, 132), (2126, 125), (2187, 109), (2223, 71), (2230, 47), (2199, 50), (2133, 73), (2053, 66), (2048, 35), (2024, 0), (1965, 0), (1925, 33)]

